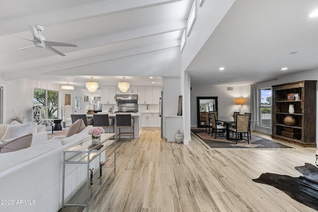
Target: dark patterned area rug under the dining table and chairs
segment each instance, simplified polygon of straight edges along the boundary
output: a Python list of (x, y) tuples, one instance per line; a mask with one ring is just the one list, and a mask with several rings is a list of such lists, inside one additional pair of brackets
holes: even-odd
[(211, 133), (207, 134), (205, 132), (205, 129), (200, 129), (200, 128), (191, 129), (191, 135), (196, 137), (199, 141), (201, 141), (207, 148), (252, 148), (252, 149), (293, 148), (291, 146), (284, 145), (275, 141), (263, 139), (254, 135), (251, 135), (249, 144), (245, 140), (241, 140), (241, 141), (238, 140), (238, 143), (236, 144), (235, 140), (226, 139), (226, 133), (224, 133), (222, 137), (219, 137), (218, 135), (217, 139), (215, 139), (214, 134), (213, 134), (213, 137), (211, 137)]

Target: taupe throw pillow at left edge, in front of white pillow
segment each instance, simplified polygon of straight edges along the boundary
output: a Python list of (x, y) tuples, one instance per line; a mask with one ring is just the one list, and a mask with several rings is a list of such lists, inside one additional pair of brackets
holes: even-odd
[(32, 143), (32, 134), (22, 136), (0, 144), (0, 153), (28, 148)]

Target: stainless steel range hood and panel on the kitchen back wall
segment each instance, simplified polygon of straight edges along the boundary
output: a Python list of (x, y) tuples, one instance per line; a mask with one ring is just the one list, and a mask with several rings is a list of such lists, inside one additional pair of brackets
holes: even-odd
[(115, 99), (118, 106), (115, 112), (138, 112), (137, 94), (116, 94)]

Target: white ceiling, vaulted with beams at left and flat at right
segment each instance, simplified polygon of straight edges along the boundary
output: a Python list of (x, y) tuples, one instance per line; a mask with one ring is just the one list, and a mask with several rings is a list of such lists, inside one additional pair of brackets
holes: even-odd
[[(188, 59), (184, 70), (190, 73), (191, 85), (243, 85), (318, 69), (318, 18), (308, 17), (318, 9), (317, 0), (233, 1), (203, 0), (198, 9), (194, 30), (204, 30), (204, 18), (206, 27), (216, 28)], [(1, 0), (0, 74), (4, 80), (27, 77), (79, 86), (91, 75), (101, 84), (113, 84), (122, 76), (134, 84), (160, 84), (160, 76), (177, 76), (182, 54), (193, 51), (185, 48), (180, 53), (192, 3)], [(222, 5), (223, 19), (211, 26), (212, 11)], [(32, 44), (17, 38), (33, 40), (28, 25), (42, 25), (41, 34), (48, 41), (78, 47), (56, 47), (65, 57), (35, 47), (19, 50)], [(281, 71), (283, 67), (288, 70)]]

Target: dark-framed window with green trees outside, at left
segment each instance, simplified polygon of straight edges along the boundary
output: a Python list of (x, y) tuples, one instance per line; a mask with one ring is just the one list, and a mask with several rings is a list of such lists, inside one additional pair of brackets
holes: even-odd
[(41, 105), (42, 119), (56, 119), (58, 118), (59, 92), (54, 90), (45, 90), (34, 88), (33, 105)]

